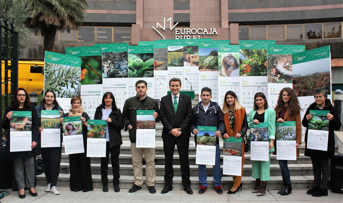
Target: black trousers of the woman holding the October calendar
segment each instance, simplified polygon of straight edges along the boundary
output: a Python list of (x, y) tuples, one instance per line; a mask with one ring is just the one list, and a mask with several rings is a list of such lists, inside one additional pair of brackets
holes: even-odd
[(119, 185), (119, 154), (120, 145), (116, 147), (109, 147), (109, 142), (106, 142), (106, 157), (101, 157), (101, 180), (103, 185), (108, 185), (107, 170), (109, 162), (109, 154), (111, 153), (111, 164), (113, 173), (113, 185)]

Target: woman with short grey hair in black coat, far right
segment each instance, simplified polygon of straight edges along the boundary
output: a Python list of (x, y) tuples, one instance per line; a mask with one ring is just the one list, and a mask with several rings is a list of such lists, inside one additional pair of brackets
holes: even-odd
[[(332, 106), (331, 101), (327, 99), (327, 93), (324, 88), (316, 88), (314, 90), (315, 102), (312, 103), (305, 113), (303, 122), (306, 127), (305, 133), (305, 156), (311, 157), (313, 176), (315, 186), (307, 191), (307, 194), (312, 196), (327, 196), (328, 195), (328, 181), (330, 177), (330, 158), (333, 157), (335, 152), (335, 138), (334, 130), (338, 130), (341, 127), (341, 121), (339, 120), (337, 110)], [(328, 137), (328, 149), (327, 151), (308, 149), (307, 137), (308, 137), (308, 121), (313, 117), (310, 114), (310, 110), (322, 110), (330, 111), (326, 116), (329, 119), (329, 137)]]

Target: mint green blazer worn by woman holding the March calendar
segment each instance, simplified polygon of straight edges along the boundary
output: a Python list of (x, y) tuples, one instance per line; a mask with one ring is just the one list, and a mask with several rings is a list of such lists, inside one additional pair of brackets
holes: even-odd
[[(249, 118), (248, 118), (248, 127), (250, 128), (250, 123), (253, 122), (253, 117), (256, 114), (256, 110), (250, 110)], [(269, 142), (270, 139), (275, 139), (275, 119), (276, 119), (276, 113), (273, 109), (266, 109), (264, 112), (264, 122), (263, 123), (269, 123)], [(275, 149), (272, 148), (269, 150), (270, 152), (274, 152)]]

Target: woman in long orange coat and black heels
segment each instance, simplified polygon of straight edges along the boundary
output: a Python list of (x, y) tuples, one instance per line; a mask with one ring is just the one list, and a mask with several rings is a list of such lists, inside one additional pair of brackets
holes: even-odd
[[(237, 98), (237, 95), (233, 91), (228, 91), (224, 97), (222, 112), (225, 122), (224, 138), (243, 137), (248, 129), (247, 114), (245, 108), (243, 108)], [(244, 144), (242, 142), (242, 170), (244, 164)], [(228, 194), (234, 194), (239, 188), (242, 189), (241, 179), (242, 176), (232, 176), (234, 180), (233, 187), (227, 192)]]

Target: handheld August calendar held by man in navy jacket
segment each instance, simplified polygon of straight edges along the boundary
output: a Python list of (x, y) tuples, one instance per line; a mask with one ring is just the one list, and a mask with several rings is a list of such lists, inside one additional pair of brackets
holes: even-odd
[(215, 150), (217, 127), (198, 126), (199, 133), (196, 139), (196, 164), (215, 165)]

